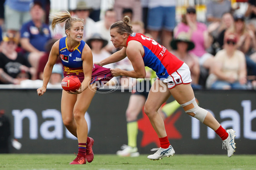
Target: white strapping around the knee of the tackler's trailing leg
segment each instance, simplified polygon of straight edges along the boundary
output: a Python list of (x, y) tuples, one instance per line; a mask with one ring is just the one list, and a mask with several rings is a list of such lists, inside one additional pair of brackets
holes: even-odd
[(207, 115), (208, 111), (203, 109), (203, 108), (200, 108), (197, 105), (197, 103), (195, 101), (195, 97), (194, 97), (194, 99), (190, 100), (189, 102), (186, 102), (186, 103), (182, 104), (181, 106), (185, 107), (185, 106), (188, 106), (188, 105), (190, 106), (189, 107), (190, 109), (189, 110), (185, 110), (185, 112), (186, 113), (190, 113), (190, 112), (195, 113), (194, 117), (196, 119), (200, 120), (200, 122), (203, 123), (204, 119), (205, 119), (205, 116)]

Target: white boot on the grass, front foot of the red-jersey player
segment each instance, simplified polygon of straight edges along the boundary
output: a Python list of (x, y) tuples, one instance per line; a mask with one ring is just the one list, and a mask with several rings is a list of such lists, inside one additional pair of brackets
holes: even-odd
[(154, 153), (153, 155), (149, 155), (148, 159), (150, 159), (150, 160), (159, 160), (159, 159), (162, 159), (165, 156), (167, 156), (169, 158), (170, 156), (174, 156), (174, 154), (175, 154), (175, 151), (174, 151), (172, 145), (170, 145), (166, 149), (163, 149), (162, 147), (151, 149), (151, 151), (154, 151), (154, 150), (157, 150), (157, 152)]

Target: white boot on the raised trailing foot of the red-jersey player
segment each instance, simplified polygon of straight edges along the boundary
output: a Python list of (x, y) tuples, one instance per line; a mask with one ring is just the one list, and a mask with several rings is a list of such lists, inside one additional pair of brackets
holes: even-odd
[(224, 141), (222, 141), (222, 149), (224, 147), (224, 149), (227, 149), (227, 156), (231, 157), (233, 155), (236, 149), (236, 143), (235, 143), (235, 130), (233, 129), (229, 129), (226, 130), (226, 132), (228, 133), (228, 137), (227, 139), (225, 139)]

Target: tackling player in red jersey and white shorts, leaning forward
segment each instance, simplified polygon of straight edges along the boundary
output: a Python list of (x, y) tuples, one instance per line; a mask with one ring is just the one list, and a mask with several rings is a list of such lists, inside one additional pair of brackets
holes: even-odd
[(143, 34), (133, 33), (131, 20), (127, 16), (123, 18), (123, 21), (118, 21), (111, 26), (110, 35), (113, 45), (123, 48), (96, 64), (102, 66), (118, 62), (127, 56), (131, 60), (134, 70), (125, 71), (114, 68), (111, 69), (113, 76), (144, 78), (145, 66), (148, 66), (156, 72), (158, 77), (149, 91), (144, 111), (159, 137), (160, 148), (153, 149), (157, 152), (149, 155), (148, 159), (158, 160), (165, 156), (173, 156), (175, 153), (169, 143), (163, 119), (157, 112), (170, 95), (176, 99), (186, 113), (215, 130), (223, 140), (224, 148), (227, 148), (227, 155), (229, 157), (233, 155), (235, 131), (233, 129), (225, 130), (211, 113), (197, 105), (190, 85), (192, 80), (189, 67), (184, 62), (177, 59), (155, 40), (145, 37)]

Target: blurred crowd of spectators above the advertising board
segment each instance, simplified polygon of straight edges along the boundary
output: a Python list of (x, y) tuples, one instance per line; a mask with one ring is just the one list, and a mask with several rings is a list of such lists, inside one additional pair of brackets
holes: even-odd
[[(49, 27), (49, 14), (58, 11), (84, 19), (93, 62), (120, 50), (110, 27), (128, 15), (134, 32), (189, 65), (194, 89), (256, 90), (256, 0), (2, 0), (0, 87), (41, 87), (51, 47), (66, 36), (64, 23)], [(104, 67), (133, 69), (127, 58)], [(62, 78), (59, 59), (48, 87), (60, 87)]]

